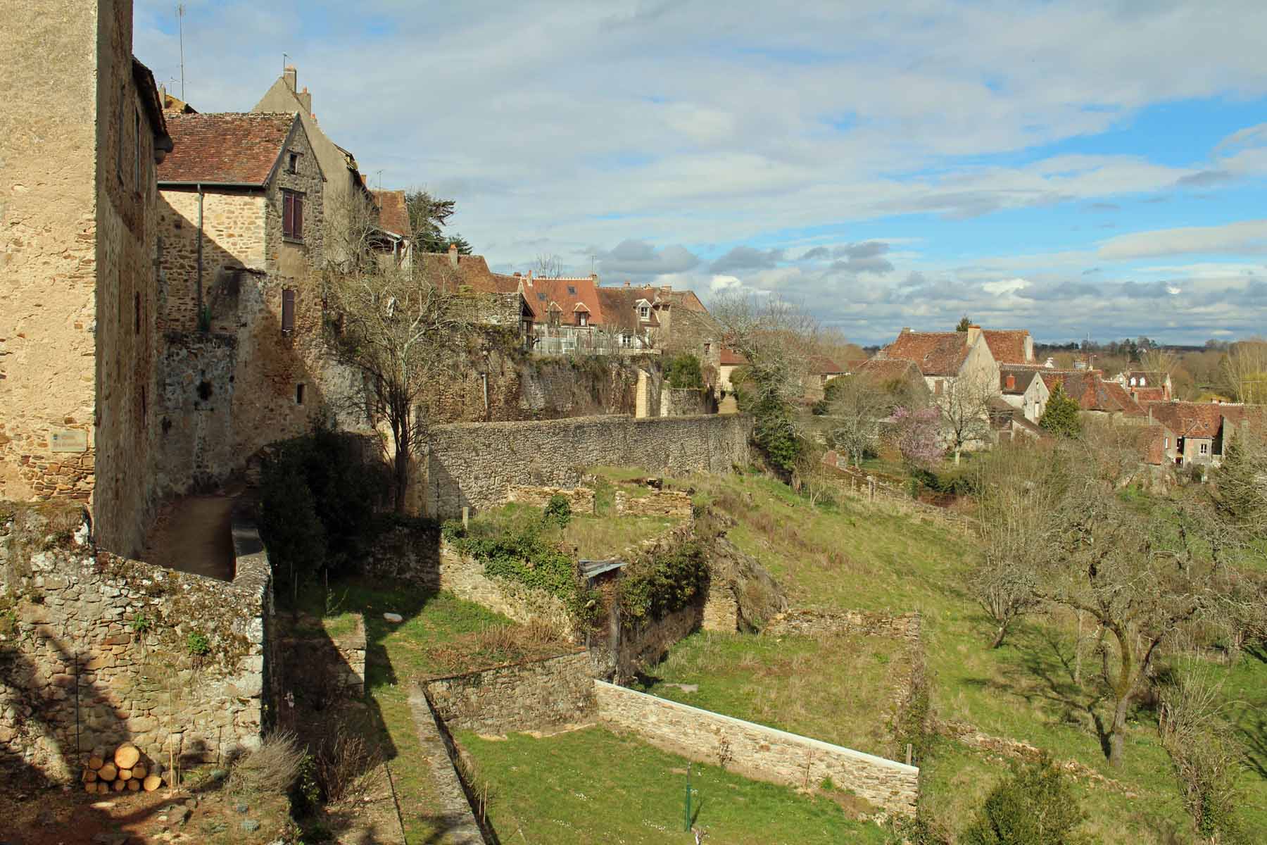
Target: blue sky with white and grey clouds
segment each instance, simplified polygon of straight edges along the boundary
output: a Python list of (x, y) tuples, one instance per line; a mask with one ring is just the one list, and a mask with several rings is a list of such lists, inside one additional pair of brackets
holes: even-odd
[[(180, 94), (171, 3), (133, 49)], [(778, 295), (850, 341), (1267, 334), (1267, 3), (186, 0), (185, 99), (298, 67), (503, 271)]]

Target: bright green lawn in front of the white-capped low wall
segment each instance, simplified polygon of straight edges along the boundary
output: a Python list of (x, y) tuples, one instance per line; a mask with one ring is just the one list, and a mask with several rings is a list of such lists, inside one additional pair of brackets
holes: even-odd
[[(602, 727), (504, 740), (460, 732), (475, 789), (504, 842), (692, 842), (684, 830), (687, 760)], [(707, 842), (883, 842), (859, 802), (821, 784), (813, 794), (691, 764), (692, 816)]]

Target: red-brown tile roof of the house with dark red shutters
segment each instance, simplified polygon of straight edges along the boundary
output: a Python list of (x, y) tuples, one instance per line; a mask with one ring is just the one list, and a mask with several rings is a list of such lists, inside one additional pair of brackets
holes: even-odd
[(298, 122), (295, 114), (169, 113), (167, 133), (175, 149), (157, 167), (158, 184), (218, 182), (262, 187)]

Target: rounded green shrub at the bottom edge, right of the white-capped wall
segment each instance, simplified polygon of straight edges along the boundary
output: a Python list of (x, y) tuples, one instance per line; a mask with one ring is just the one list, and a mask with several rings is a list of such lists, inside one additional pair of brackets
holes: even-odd
[(964, 831), (968, 845), (1081, 845), (1086, 813), (1068, 779), (1050, 758), (1012, 765)]

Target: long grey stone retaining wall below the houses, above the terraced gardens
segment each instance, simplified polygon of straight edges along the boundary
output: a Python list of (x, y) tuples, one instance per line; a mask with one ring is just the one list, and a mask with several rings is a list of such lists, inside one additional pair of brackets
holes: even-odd
[(578, 486), (587, 466), (723, 473), (748, 462), (750, 432), (740, 414), (438, 426), (422, 461), (423, 513), (446, 518), (462, 507), (494, 507), (512, 485)]

